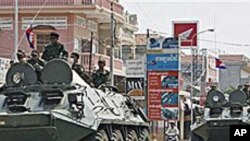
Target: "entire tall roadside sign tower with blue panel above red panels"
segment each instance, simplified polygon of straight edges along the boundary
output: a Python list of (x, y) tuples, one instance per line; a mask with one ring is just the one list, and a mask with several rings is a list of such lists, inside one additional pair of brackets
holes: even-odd
[(151, 120), (178, 119), (179, 58), (176, 38), (150, 39), (146, 68), (148, 118)]

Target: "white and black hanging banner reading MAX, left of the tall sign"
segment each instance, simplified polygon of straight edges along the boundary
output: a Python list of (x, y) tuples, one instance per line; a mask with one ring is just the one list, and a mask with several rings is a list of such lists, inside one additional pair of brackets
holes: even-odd
[(143, 59), (127, 60), (126, 63), (126, 94), (136, 100), (144, 100), (144, 61)]

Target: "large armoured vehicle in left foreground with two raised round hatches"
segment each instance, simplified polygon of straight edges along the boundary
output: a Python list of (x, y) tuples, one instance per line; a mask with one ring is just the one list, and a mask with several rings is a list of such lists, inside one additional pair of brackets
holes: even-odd
[(149, 122), (117, 89), (92, 88), (63, 60), (48, 62), (37, 78), (15, 63), (0, 92), (1, 141), (149, 141)]

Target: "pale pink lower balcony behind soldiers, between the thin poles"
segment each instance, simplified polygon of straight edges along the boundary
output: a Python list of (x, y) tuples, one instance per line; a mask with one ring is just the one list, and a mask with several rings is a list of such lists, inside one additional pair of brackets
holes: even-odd
[[(106, 61), (105, 68), (107, 70), (110, 70), (109, 56), (97, 53), (92, 54), (91, 70), (95, 70), (97, 68), (97, 64), (100, 57)], [(89, 53), (81, 54), (81, 63), (84, 66), (85, 70), (89, 71)], [(125, 76), (125, 72), (123, 71), (123, 61), (121, 59), (114, 59), (114, 74), (119, 76)]]

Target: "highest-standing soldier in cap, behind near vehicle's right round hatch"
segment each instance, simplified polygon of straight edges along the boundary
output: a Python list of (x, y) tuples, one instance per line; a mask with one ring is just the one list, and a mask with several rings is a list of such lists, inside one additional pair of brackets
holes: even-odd
[(55, 58), (65, 59), (65, 55), (68, 52), (64, 49), (64, 46), (58, 42), (59, 34), (52, 32), (50, 33), (51, 43), (45, 47), (42, 55), (42, 59), (45, 61), (50, 61)]

